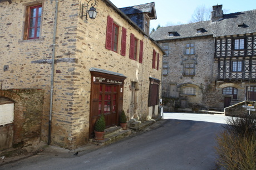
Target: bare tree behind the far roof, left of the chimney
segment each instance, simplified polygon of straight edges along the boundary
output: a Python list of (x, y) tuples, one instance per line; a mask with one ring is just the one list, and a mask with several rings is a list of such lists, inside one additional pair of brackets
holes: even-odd
[(211, 8), (206, 8), (205, 5), (201, 5), (195, 8), (193, 15), (191, 16), (190, 23), (203, 22), (210, 20)]

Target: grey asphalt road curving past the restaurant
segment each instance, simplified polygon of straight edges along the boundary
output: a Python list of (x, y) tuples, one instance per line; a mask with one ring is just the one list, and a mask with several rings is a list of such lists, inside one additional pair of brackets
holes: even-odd
[(214, 139), (222, 129), (220, 123), (168, 119), (157, 128), (90, 153), (47, 159), (36, 155), (0, 169), (211, 170), (216, 169)]

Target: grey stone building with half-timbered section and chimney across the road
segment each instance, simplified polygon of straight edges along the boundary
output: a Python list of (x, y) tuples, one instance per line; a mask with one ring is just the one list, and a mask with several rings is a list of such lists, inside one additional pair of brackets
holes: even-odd
[(166, 52), (166, 111), (223, 110), (256, 99), (255, 16), (255, 9), (223, 14), (222, 5), (217, 5), (211, 20), (162, 27), (151, 34)]

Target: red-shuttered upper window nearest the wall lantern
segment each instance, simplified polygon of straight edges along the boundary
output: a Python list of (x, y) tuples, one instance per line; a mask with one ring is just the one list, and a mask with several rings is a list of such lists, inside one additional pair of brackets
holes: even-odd
[[(119, 49), (119, 25), (114, 23), (113, 18), (107, 17), (106, 49), (118, 52)], [(121, 55), (125, 56), (126, 29), (122, 28)]]

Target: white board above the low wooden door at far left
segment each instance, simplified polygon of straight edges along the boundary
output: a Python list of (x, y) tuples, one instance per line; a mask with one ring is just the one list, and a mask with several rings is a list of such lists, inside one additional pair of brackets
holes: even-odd
[(14, 104), (0, 105), (0, 126), (13, 123)]

